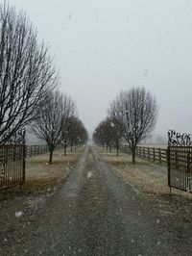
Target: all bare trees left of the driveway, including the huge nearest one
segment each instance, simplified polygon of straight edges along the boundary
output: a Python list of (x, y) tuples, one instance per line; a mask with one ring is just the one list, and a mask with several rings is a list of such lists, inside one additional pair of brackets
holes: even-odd
[(0, 142), (31, 131), (53, 151), (63, 143), (84, 143), (87, 133), (70, 96), (58, 90), (60, 75), (25, 13), (0, 5)]

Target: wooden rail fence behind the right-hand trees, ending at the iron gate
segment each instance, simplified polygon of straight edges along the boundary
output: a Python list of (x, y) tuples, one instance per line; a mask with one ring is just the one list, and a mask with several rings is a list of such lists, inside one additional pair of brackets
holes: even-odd
[[(131, 153), (131, 149), (128, 145), (123, 145), (121, 151), (126, 153)], [(145, 158), (152, 161), (157, 161), (161, 163), (167, 163), (167, 149), (165, 148), (156, 148), (148, 146), (137, 146), (136, 147), (136, 156)]]

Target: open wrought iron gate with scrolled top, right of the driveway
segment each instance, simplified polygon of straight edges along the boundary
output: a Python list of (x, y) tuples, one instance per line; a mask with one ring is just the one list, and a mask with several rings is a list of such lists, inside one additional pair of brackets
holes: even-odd
[(192, 192), (192, 141), (176, 131), (168, 132), (168, 186)]

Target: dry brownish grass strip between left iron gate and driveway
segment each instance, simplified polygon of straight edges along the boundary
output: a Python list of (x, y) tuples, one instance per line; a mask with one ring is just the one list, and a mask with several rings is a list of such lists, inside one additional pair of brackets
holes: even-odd
[(50, 192), (56, 189), (60, 181), (64, 179), (76, 165), (83, 148), (74, 152), (57, 150), (53, 155), (53, 164), (48, 164), (49, 154), (38, 155), (26, 160), (26, 181), (21, 192), (39, 193)]

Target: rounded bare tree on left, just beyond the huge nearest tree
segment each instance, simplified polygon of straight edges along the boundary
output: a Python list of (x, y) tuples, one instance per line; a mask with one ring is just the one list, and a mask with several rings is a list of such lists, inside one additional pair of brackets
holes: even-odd
[(49, 164), (52, 164), (54, 149), (62, 139), (63, 120), (73, 114), (74, 106), (69, 96), (55, 91), (49, 93), (36, 111), (36, 119), (31, 127), (36, 137), (46, 141), (49, 146)]

